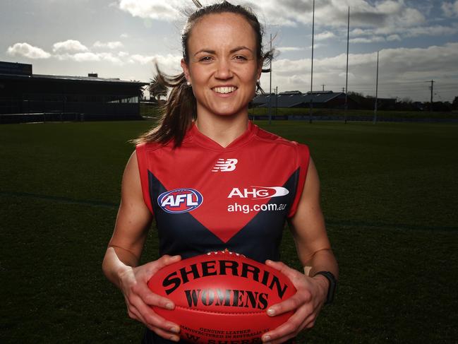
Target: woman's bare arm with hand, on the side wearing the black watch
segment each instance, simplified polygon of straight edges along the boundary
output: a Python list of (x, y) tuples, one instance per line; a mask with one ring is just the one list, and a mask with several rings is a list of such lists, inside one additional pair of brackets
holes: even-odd
[(287, 275), (297, 290), (296, 295), (267, 310), (270, 316), (295, 312), (286, 323), (265, 333), (263, 341), (270, 344), (284, 343), (304, 328), (314, 326), (325, 303), (329, 283), (323, 275), (313, 278), (310, 276), (318, 271), (330, 271), (337, 278), (339, 273), (325, 230), (320, 208), (320, 180), (313, 160), (308, 165), (306, 182), (290, 227), (304, 273), (289, 268), (282, 262), (266, 261), (268, 265)]

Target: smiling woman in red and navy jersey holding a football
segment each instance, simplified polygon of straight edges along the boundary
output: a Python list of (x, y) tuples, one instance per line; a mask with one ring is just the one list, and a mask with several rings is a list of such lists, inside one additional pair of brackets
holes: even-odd
[[(195, 1), (198, 2), (198, 1)], [(229, 249), (285, 273), (296, 295), (267, 310), (295, 310), (263, 335), (286, 343), (311, 328), (337, 277), (308, 148), (248, 121), (248, 102), (262, 73), (262, 30), (241, 6), (195, 11), (182, 35), (183, 74), (172, 86), (159, 126), (138, 139), (123, 174), (121, 205), (104, 257), (107, 278), (121, 289), (128, 314), (149, 329), (143, 343), (179, 341), (179, 326), (150, 305), (173, 309), (147, 280), (170, 263)], [(153, 214), (161, 258), (138, 266)], [(278, 262), (289, 220), (304, 273)], [(318, 274), (317, 274), (318, 273)], [(331, 293), (332, 294), (332, 293)]]

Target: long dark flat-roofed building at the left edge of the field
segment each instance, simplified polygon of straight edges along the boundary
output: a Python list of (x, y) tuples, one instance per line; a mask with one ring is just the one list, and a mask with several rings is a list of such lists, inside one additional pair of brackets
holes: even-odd
[(145, 85), (96, 73), (33, 74), (31, 64), (0, 61), (0, 123), (139, 119)]

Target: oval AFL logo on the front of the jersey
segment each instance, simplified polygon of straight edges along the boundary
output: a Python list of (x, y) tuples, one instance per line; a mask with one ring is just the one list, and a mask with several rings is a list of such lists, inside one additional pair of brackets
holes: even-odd
[(203, 203), (203, 196), (194, 189), (174, 189), (159, 195), (157, 204), (167, 213), (188, 213)]

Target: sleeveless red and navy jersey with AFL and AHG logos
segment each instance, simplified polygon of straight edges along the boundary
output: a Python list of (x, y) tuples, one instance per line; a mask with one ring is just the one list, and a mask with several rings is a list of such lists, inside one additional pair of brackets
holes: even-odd
[(306, 179), (307, 146), (250, 122), (225, 148), (193, 125), (177, 148), (142, 143), (136, 153), (159, 254), (188, 258), (229, 249), (261, 262), (279, 260), (284, 223)]

